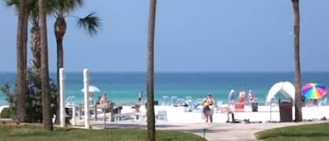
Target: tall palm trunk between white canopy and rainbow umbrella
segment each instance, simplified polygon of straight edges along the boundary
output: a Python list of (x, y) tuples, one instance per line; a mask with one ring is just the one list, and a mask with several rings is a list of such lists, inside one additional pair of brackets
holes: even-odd
[(300, 84), (300, 0), (293, 2), (294, 13), (294, 54), (295, 54), (295, 119), (302, 121), (302, 98)]

